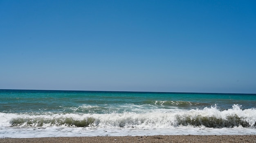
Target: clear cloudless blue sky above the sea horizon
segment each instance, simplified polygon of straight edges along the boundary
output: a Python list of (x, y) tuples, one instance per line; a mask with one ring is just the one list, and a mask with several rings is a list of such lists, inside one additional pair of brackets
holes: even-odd
[(0, 89), (256, 93), (256, 1), (0, 0)]

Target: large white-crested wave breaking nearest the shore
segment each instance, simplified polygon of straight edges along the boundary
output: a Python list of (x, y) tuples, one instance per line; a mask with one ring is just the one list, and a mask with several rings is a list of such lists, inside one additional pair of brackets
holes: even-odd
[(256, 109), (244, 109), (234, 104), (220, 111), (218, 106), (203, 109), (171, 110), (151, 113), (64, 114), (45, 113), (30, 115), (0, 113), (0, 127), (95, 127), (95, 128), (171, 128), (205, 126), (209, 128), (256, 128)]

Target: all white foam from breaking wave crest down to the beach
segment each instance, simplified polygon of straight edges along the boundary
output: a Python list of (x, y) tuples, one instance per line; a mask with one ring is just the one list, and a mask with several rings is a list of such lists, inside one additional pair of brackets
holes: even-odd
[[(180, 121), (208, 119), (228, 120), (232, 128), (207, 128), (204, 125), (183, 126)], [(236, 126), (236, 117), (247, 122), (246, 128)], [(45, 115), (0, 113), (0, 137), (77, 137), (77, 136), (136, 136), (136, 135), (220, 135), (256, 134), (256, 109), (242, 110), (239, 105), (220, 111), (217, 106), (209, 108), (181, 110), (161, 109), (149, 113), (111, 113), (111, 114), (63, 114)], [(21, 119), (15, 126), (13, 120)], [(65, 120), (87, 121), (93, 119), (88, 127), (65, 124)], [(43, 124), (38, 124), (42, 122)], [(207, 120), (208, 121), (208, 120)], [(53, 123), (54, 122), (54, 123)], [(203, 122), (203, 121), (202, 121)], [(239, 124), (239, 123), (238, 123)]]

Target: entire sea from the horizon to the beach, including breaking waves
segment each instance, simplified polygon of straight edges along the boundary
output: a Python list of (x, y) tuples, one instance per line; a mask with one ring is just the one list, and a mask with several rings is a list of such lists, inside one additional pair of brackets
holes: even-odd
[(0, 138), (256, 134), (256, 94), (0, 90)]

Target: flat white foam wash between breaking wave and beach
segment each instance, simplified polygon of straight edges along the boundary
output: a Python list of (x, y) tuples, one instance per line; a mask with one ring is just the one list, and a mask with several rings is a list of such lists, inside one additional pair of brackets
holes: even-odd
[(92, 136), (151, 136), (151, 135), (223, 135), (256, 134), (253, 128), (205, 128), (183, 126), (178, 128), (0, 128), (0, 138), (30, 137), (92, 137)]

